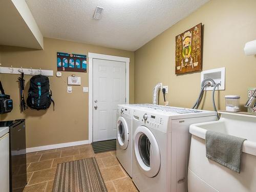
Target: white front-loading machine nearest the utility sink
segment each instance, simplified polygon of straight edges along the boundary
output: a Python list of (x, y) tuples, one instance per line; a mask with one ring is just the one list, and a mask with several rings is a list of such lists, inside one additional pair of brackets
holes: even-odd
[(155, 106), (133, 112), (133, 182), (142, 191), (187, 191), (189, 125), (216, 112)]

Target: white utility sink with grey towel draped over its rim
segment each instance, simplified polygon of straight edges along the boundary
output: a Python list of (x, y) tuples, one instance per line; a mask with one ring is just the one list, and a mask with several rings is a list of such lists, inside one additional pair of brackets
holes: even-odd
[[(219, 112), (218, 121), (192, 124), (188, 164), (189, 192), (256, 191), (256, 115)], [(217, 131), (247, 139), (243, 143), (241, 172), (236, 173), (206, 158), (205, 133)]]

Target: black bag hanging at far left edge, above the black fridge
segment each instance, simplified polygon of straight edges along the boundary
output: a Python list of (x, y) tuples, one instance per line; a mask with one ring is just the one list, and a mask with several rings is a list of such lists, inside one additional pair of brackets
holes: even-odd
[(10, 95), (6, 95), (4, 88), (2, 86), (2, 82), (0, 81), (0, 114), (9, 113), (12, 111), (13, 102), (10, 99)]

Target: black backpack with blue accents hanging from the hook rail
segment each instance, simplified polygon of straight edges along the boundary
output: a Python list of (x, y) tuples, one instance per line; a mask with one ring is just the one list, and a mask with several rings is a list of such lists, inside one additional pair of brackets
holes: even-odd
[(52, 91), (50, 90), (49, 78), (44, 75), (35, 75), (30, 79), (29, 95), (27, 105), (35, 110), (47, 110), (51, 103)]

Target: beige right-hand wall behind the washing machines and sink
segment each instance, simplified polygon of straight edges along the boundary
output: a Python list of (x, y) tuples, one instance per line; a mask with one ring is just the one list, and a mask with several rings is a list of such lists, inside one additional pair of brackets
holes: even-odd
[[(193, 106), (200, 91), (200, 72), (175, 75), (175, 36), (202, 23), (203, 70), (226, 68), (226, 90), (216, 93), (218, 109), (225, 109), (225, 95), (241, 95), (244, 104), (247, 88), (256, 87), (256, 57), (243, 52), (245, 43), (256, 39), (255, 7), (254, 0), (212, 0), (138, 49), (135, 102), (151, 103), (153, 86), (162, 82), (168, 86), (170, 105)], [(213, 110), (210, 95), (211, 91), (207, 91), (203, 109)]]

